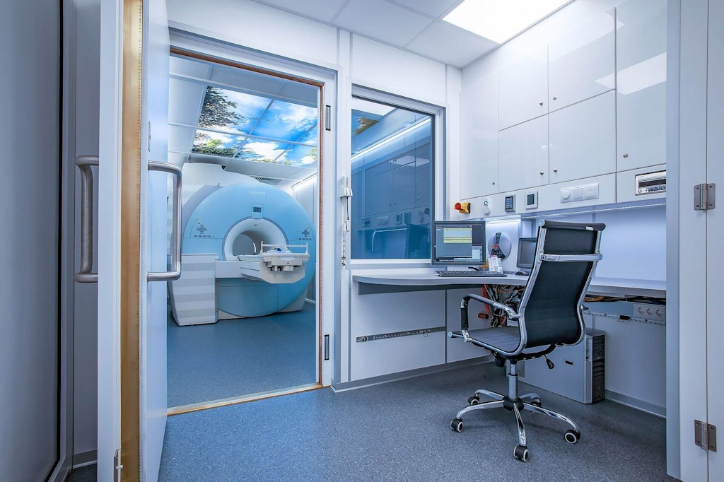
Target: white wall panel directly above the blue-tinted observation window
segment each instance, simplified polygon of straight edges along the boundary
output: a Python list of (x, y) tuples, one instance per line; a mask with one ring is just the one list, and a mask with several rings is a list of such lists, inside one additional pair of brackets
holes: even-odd
[(445, 64), (352, 35), (352, 82), (445, 105)]

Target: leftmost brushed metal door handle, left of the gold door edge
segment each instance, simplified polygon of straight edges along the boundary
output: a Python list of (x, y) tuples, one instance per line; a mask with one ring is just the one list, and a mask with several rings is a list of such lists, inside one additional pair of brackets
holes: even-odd
[(97, 283), (93, 272), (93, 171), (98, 156), (78, 156), (75, 165), (80, 169), (80, 271), (73, 275), (79, 283)]

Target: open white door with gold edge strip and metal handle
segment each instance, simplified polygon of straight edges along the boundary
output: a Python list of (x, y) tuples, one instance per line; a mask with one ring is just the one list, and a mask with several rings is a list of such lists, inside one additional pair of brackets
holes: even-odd
[[(155, 481), (166, 427), (169, 38), (164, 0), (101, 7), (98, 480)], [(178, 203), (174, 204), (174, 208)], [(177, 233), (177, 232), (176, 232)], [(178, 234), (174, 241), (180, 240)], [(180, 242), (174, 244), (180, 245)]]

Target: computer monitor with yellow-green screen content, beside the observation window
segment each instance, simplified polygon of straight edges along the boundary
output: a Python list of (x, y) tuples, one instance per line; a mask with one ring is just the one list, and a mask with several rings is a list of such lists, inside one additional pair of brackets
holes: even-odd
[(484, 221), (432, 221), (433, 264), (482, 264), (485, 262)]

